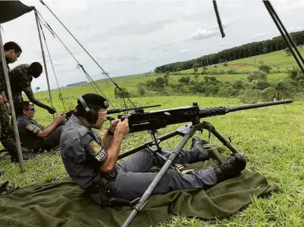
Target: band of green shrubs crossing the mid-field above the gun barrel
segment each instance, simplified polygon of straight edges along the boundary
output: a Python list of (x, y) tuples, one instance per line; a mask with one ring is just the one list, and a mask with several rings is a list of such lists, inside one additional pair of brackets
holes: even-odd
[[(138, 94), (125, 93), (133, 97), (158, 96), (158, 95), (200, 95), (205, 97), (238, 97), (244, 103), (256, 103), (288, 98), (303, 99), (304, 75), (293, 68), (288, 70), (288, 77), (276, 81), (268, 81), (271, 68), (260, 67), (259, 70), (247, 75), (247, 80), (220, 81), (214, 76), (203, 76), (203, 79), (190, 76), (180, 77), (178, 83), (169, 83), (170, 77), (167, 72), (163, 77), (148, 80), (146, 83), (137, 85)], [(154, 92), (153, 94), (151, 92)]]

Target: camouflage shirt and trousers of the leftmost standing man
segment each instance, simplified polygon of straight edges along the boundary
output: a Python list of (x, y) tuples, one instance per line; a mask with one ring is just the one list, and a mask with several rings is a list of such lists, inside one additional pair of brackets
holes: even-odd
[[(8, 61), (6, 61), (8, 67)], [(9, 67), (8, 67), (9, 69)], [(4, 70), (2, 67), (2, 62), (0, 61), (0, 92), (6, 91), (6, 78), (4, 75)], [(6, 150), (10, 153), (13, 159), (18, 160), (18, 152), (15, 142), (15, 134), (12, 126), (10, 125), (10, 115), (8, 115), (8, 109), (4, 103), (0, 104), (0, 140)]]

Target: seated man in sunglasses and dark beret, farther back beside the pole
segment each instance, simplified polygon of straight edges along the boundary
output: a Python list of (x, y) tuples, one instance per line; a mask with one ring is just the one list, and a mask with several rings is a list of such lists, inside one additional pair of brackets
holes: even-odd
[(19, 108), (21, 108), (22, 115), (17, 119), (17, 126), (21, 146), (34, 152), (57, 148), (66, 117), (60, 115), (52, 124), (44, 128), (35, 119), (32, 119), (35, 115), (35, 107), (32, 102), (23, 101)]

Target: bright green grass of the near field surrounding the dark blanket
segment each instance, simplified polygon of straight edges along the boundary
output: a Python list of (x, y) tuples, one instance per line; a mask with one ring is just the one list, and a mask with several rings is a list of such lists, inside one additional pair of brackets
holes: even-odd
[[(71, 103), (75, 103), (72, 97), (87, 92), (86, 86), (70, 89), (66, 92), (70, 94)], [(74, 95), (72, 90), (77, 90), (77, 93)], [(193, 101), (198, 101), (200, 108), (242, 104), (237, 99), (211, 97), (143, 97), (133, 101), (137, 105), (160, 103), (160, 108), (191, 106)], [(59, 106), (59, 103), (56, 104)], [(278, 185), (280, 192), (265, 198), (253, 197), (245, 210), (225, 219), (206, 221), (172, 217), (160, 226), (304, 226), (303, 105), (303, 101), (297, 101), (289, 105), (231, 112), (224, 116), (205, 119), (216, 126), (225, 138), (231, 137), (233, 146), (245, 154), (248, 170), (260, 172), (269, 184)], [(37, 119), (44, 124), (50, 121), (46, 111), (40, 108), (37, 110)], [(160, 135), (175, 130), (180, 125), (182, 124), (168, 126), (160, 130)], [(207, 139), (207, 132), (203, 135), (197, 134)], [(151, 136), (146, 132), (127, 135), (122, 152), (150, 139)], [(219, 144), (214, 137), (211, 137), (211, 142)], [(170, 149), (177, 143), (176, 139), (169, 139), (162, 146)], [(26, 172), (22, 174), (19, 166), (9, 161), (0, 161), (0, 166), (5, 171), (0, 181), (15, 181), (20, 187), (68, 177), (59, 153), (41, 154), (35, 160), (25, 161)]]

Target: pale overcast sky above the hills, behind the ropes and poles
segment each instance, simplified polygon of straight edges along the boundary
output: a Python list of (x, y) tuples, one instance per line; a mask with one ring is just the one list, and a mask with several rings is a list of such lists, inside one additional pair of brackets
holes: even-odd
[[(35, 6), (58, 37), (94, 79), (104, 79), (93, 60), (38, 0), (21, 0)], [(222, 38), (213, 3), (208, 1), (44, 1), (95, 58), (115, 77), (153, 71), (157, 66), (187, 61), (252, 41), (280, 35), (262, 1), (217, 1), (226, 37)], [(304, 30), (304, 1), (271, 1), (288, 32)], [(3, 43), (15, 41), (23, 52), (21, 63), (43, 65), (35, 13), (3, 23)], [(43, 27), (59, 86), (88, 81), (59, 39)], [(57, 88), (48, 52), (46, 65), (50, 88)], [(120, 85), (124, 87), (123, 85)], [(32, 88), (48, 88), (44, 73)]]

